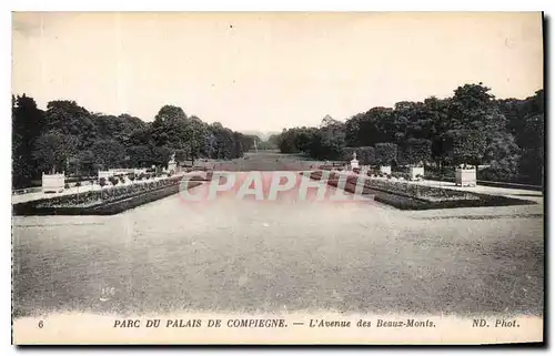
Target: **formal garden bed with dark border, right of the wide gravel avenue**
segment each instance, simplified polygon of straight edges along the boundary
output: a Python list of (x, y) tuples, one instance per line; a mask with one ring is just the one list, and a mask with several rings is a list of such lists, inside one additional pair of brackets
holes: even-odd
[[(323, 172), (310, 173), (313, 180), (322, 180)], [(325, 179), (325, 177), (324, 177)], [(532, 201), (512, 199), (507, 196), (480, 194), (446, 187), (426, 186), (422, 184), (400, 181), (394, 177), (366, 177), (362, 175), (349, 175), (344, 190), (350, 193), (356, 192), (356, 184), (363, 185), (362, 194), (374, 194), (374, 200), (402, 210), (430, 210), (470, 206), (503, 206), (535, 204)], [(340, 175), (329, 172), (327, 184), (337, 187)]]

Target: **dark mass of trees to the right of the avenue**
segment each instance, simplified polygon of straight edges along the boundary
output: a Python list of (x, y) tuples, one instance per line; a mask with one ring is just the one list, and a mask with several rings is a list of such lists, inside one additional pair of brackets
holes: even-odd
[(446, 99), (372, 108), (344, 122), (326, 115), (319, 128), (284, 129), (273, 140), (282, 153), (316, 160), (356, 151), (362, 164), (486, 165), (486, 179), (542, 184), (544, 91), (497, 100), (490, 90), (465, 84)]

